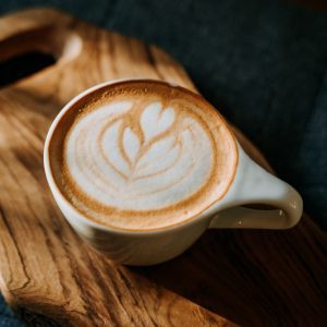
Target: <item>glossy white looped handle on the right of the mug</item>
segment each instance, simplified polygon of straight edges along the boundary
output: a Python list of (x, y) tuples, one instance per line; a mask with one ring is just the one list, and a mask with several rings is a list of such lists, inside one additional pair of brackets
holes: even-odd
[[(254, 162), (239, 144), (238, 147), (234, 181), (220, 201), (209, 228), (288, 229), (295, 226), (303, 211), (300, 194)], [(242, 207), (246, 204), (265, 204), (276, 209)]]

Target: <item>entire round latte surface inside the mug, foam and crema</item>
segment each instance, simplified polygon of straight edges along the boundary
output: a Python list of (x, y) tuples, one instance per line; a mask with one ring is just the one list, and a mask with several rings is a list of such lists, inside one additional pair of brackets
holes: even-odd
[(50, 141), (65, 199), (89, 220), (123, 230), (186, 221), (221, 198), (237, 145), (201, 96), (164, 82), (106, 85), (74, 102)]

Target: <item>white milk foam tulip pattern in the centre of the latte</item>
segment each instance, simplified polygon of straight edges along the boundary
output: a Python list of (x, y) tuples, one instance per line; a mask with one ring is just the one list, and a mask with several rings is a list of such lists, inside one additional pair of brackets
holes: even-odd
[(155, 210), (196, 193), (213, 170), (213, 145), (191, 117), (159, 101), (136, 121), (133, 102), (82, 117), (66, 137), (64, 161), (81, 191), (123, 210)]

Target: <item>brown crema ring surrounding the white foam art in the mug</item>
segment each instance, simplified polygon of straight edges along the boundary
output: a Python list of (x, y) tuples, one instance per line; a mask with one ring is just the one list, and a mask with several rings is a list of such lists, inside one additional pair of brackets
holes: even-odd
[[(126, 128), (131, 129), (141, 144), (138, 154), (141, 157), (154, 143), (169, 135), (175, 135), (178, 146), (179, 133), (185, 128), (183, 122), (187, 119), (196, 121), (198, 126), (202, 128), (211, 148), (211, 168), (196, 192), (185, 194), (181, 201), (157, 209), (124, 209), (106, 205), (80, 187), (65, 162), (64, 154), (70, 133), (76, 123), (90, 112), (102, 106), (126, 100), (134, 105), (128, 113), (118, 118), (122, 121), (119, 130), (119, 140), (123, 140), (122, 133)], [(160, 102), (162, 108), (173, 108), (175, 120), (169, 129), (146, 143), (144, 131), (140, 125), (140, 117), (144, 108), (152, 102)], [(107, 124), (110, 125), (112, 123), (114, 122), (110, 120)], [(104, 125), (106, 125), (106, 122), (104, 122)], [(92, 133), (92, 128), (85, 133)], [(104, 133), (99, 135), (99, 140), (105, 137)], [(86, 136), (84, 135), (84, 137)], [(133, 168), (134, 164), (124, 153), (121, 143), (119, 148), (128, 166)], [(238, 164), (235, 140), (226, 121), (210, 104), (202, 96), (183, 87), (149, 80), (124, 81), (106, 85), (74, 102), (57, 124), (50, 140), (49, 154), (55, 182), (65, 199), (76, 210), (87, 219), (109, 228), (135, 231), (167, 228), (198, 216), (227, 193), (233, 181)], [(104, 154), (101, 155), (104, 156)], [(196, 158), (196, 156), (201, 155), (201, 152), (198, 152), (194, 154), (194, 157)], [(117, 167), (113, 168), (117, 169)], [(100, 174), (100, 171), (95, 171), (94, 173)], [(129, 179), (126, 173), (122, 171), (118, 171), (118, 173), (121, 173), (122, 179)], [(106, 178), (102, 177), (104, 180)], [(186, 178), (192, 178), (192, 174)], [(109, 180), (108, 183), (110, 183)], [(142, 192), (145, 191), (143, 190)], [(130, 206), (133, 206), (132, 202), (133, 199), (131, 199)]]

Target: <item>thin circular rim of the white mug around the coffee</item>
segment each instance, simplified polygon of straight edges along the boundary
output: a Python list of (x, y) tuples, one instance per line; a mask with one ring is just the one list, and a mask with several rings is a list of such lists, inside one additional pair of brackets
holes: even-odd
[(119, 228), (119, 227), (104, 225), (104, 223), (100, 223), (98, 221), (92, 220), (86, 215), (81, 213), (77, 208), (75, 208), (75, 206), (65, 198), (65, 196), (62, 194), (61, 190), (58, 187), (58, 185), (55, 181), (53, 174), (52, 174), (52, 169), (51, 169), (51, 164), (50, 164), (50, 158), (49, 158), (49, 153), (50, 153), (49, 148), (50, 148), (50, 143), (51, 143), (52, 136), (56, 133), (59, 121), (64, 117), (66, 111), (70, 110), (70, 108), (72, 108), (72, 106), (74, 106), (76, 102), (78, 102), (81, 99), (83, 99), (87, 95), (92, 94), (93, 92), (98, 90), (100, 88), (105, 88), (105, 87), (107, 87), (109, 85), (112, 85), (112, 84), (120, 84), (120, 83), (128, 83), (128, 82), (147, 82), (147, 83), (154, 83), (155, 82), (155, 83), (169, 85), (169, 86), (172, 86), (172, 87), (178, 87), (178, 88), (182, 89), (182, 92), (186, 92), (189, 94), (192, 94), (192, 96), (195, 96), (195, 97), (199, 98), (201, 100), (204, 100), (204, 101), (207, 102), (207, 100), (202, 95), (199, 95), (199, 94), (197, 94), (193, 90), (190, 90), (190, 89), (187, 89), (187, 88), (185, 88), (185, 87), (183, 87), (183, 86), (181, 86), (177, 83), (170, 83), (170, 82), (166, 82), (166, 81), (162, 81), (162, 80), (155, 80), (155, 78), (116, 78), (116, 80), (110, 80), (110, 81), (107, 81), (107, 82), (104, 82), (104, 83), (96, 84), (96, 85), (83, 90), (82, 93), (78, 93), (66, 105), (64, 105), (64, 107), (56, 116), (55, 120), (51, 122), (51, 125), (48, 130), (46, 141), (45, 141), (45, 145), (44, 145), (44, 168), (45, 168), (45, 172), (46, 172), (46, 179), (47, 179), (47, 182), (50, 186), (50, 191), (51, 191), (56, 202), (60, 201), (65, 206), (65, 209), (68, 209), (69, 211), (71, 211), (71, 214), (73, 214), (75, 216), (74, 219), (78, 218), (78, 219), (82, 220), (83, 223), (86, 223), (86, 225), (88, 225), (93, 228), (100, 229), (100, 230), (106, 231), (106, 232), (117, 233), (117, 234), (129, 234), (129, 235), (134, 234), (134, 235), (136, 235), (137, 233), (140, 233), (140, 234), (146, 235), (146, 234), (154, 234), (154, 233), (170, 232), (171, 230), (177, 230), (177, 229), (180, 229), (180, 228), (184, 228), (189, 225), (192, 225), (192, 223), (196, 222), (199, 219), (204, 219), (205, 218), (205, 217), (203, 217), (204, 213), (207, 211), (211, 206), (217, 204), (218, 201), (221, 201), (227, 195), (228, 191), (230, 190), (231, 185), (233, 184), (233, 182), (235, 180), (238, 166), (239, 166), (239, 159), (240, 159), (239, 158), (238, 141), (235, 140), (235, 136), (234, 136), (232, 130), (230, 129), (228, 122), (225, 120), (225, 118), (221, 116), (221, 113), (214, 106), (213, 107), (214, 107), (216, 113), (219, 116), (219, 118), (221, 119), (221, 122), (225, 124), (225, 126), (227, 128), (227, 130), (230, 134), (229, 137), (231, 138), (233, 147), (234, 147), (233, 150), (234, 150), (234, 155), (235, 155), (235, 164), (234, 164), (233, 171), (232, 171), (232, 174), (231, 174), (231, 178), (230, 178), (230, 182), (229, 182), (228, 186), (226, 187), (226, 190), (223, 191), (223, 193), (220, 195), (220, 197), (217, 198), (211, 204), (209, 204), (203, 210), (198, 211), (196, 215), (194, 215), (194, 216), (192, 216), (192, 217), (190, 217), (185, 220), (182, 220), (180, 222), (175, 222), (173, 225), (169, 225), (169, 226), (165, 226), (165, 227), (160, 227), (160, 228), (154, 228), (154, 229)]

